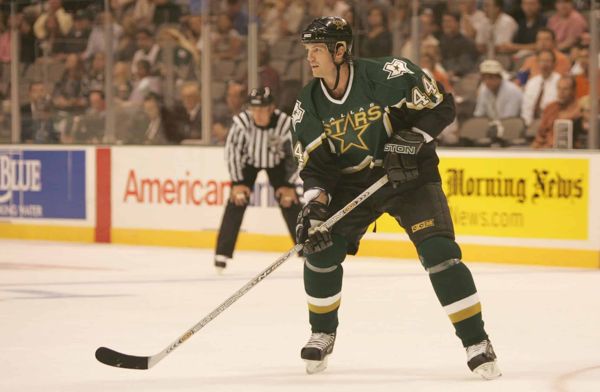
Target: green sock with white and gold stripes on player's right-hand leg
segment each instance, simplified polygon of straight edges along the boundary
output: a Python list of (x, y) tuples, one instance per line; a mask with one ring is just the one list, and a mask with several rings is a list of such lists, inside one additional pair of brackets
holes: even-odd
[(417, 252), (463, 346), (487, 339), (479, 295), (471, 271), (460, 261), (458, 244), (449, 238), (433, 237), (423, 241)]

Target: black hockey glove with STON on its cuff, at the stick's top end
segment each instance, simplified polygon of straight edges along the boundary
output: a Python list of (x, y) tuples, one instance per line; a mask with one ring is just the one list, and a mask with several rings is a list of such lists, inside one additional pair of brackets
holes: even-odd
[(383, 168), (388, 173), (389, 182), (394, 188), (402, 182), (419, 176), (416, 154), (425, 142), (422, 134), (409, 130), (399, 130), (392, 134), (383, 151)]

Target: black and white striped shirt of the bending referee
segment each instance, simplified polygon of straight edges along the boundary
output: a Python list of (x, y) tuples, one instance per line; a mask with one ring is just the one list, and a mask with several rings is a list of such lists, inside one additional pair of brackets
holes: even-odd
[(283, 163), (292, 154), (290, 118), (275, 109), (271, 124), (258, 127), (250, 110), (233, 116), (233, 124), (225, 142), (225, 161), (233, 182), (244, 181), (244, 167), (268, 169)]

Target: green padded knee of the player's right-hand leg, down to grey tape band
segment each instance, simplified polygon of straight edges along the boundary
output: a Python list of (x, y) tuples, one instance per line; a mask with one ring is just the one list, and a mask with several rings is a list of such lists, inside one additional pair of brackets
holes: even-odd
[(458, 244), (448, 237), (431, 237), (419, 244), (416, 250), (423, 268), (430, 274), (460, 264), (463, 257)]

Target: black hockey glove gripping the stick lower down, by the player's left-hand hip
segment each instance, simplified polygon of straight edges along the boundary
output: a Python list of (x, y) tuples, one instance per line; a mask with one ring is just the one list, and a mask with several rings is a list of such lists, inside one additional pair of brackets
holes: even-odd
[(329, 217), (327, 205), (311, 201), (302, 208), (296, 222), (296, 243), (304, 244), (304, 253), (320, 252), (332, 246), (329, 229), (322, 225)]

